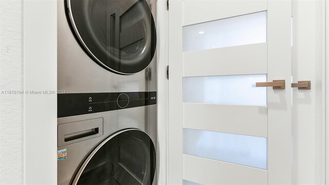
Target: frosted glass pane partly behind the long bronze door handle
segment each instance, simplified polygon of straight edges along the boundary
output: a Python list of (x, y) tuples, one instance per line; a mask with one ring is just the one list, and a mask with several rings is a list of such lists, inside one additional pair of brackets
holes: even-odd
[(266, 74), (183, 78), (183, 101), (228, 105), (267, 105)]

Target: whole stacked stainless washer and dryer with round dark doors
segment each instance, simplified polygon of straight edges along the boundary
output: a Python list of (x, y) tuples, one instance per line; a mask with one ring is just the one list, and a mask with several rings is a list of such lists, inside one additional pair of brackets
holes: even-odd
[(58, 184), (156, 183), (155, 1), (58, 1)]

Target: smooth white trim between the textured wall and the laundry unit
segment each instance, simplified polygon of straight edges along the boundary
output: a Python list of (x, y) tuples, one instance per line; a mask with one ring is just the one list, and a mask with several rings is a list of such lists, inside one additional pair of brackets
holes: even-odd
[(24, 0), (23, 32), (24, 184), (57, 184), (57, 94), (29, 93), (57, 90), (57, 1)]

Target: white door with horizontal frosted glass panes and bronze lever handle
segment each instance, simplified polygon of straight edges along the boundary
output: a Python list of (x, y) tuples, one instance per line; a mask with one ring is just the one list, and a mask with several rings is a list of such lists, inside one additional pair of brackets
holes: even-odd
[(291, 184), (290, 83), (291, 1), (170, 1), (168, 184)]

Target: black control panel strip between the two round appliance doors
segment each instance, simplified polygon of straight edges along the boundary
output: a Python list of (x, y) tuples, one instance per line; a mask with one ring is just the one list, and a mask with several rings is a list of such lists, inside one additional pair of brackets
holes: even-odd
[(156, 91), (57, 95), (57, 117), (77, 116), (156, 104)]

